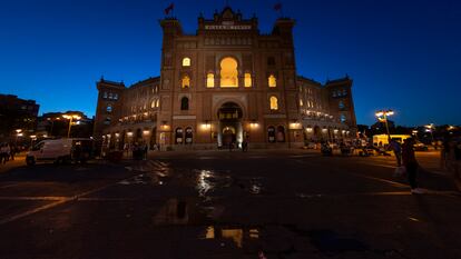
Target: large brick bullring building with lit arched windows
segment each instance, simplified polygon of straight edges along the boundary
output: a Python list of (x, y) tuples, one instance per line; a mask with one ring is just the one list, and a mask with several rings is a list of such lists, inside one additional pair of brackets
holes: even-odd
[(133, 86), (101, 79), (95, 138), (168, 149), (295, 148), (355, 137), (352, 80), (320, 83), (296, 73), (294, 20), (259, 33), (229, 7), (198, 18), (196, 33), (165, 18), (160, 76)]

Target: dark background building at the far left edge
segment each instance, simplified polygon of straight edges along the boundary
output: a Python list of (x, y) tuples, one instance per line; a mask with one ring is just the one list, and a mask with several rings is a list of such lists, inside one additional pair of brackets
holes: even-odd
[(0, 94), (0, 142), (33, 136), (39, 104), (35, 100)]

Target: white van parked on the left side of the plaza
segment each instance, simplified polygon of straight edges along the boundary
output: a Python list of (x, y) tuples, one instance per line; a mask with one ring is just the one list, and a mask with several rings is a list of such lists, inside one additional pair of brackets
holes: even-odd
[(85, 162), (91, 156), (91, 139), (48, 139), (38, 142), (26, 156), (26, 163), (37, 161)]

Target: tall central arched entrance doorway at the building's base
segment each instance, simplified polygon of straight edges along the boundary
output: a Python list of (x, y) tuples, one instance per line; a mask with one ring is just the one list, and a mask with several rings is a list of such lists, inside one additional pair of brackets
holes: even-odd
[(222, 147), (241, 147), (243, 141), (242, 108), (235, 102), (225, 102), (218, 109), (218, 145)]

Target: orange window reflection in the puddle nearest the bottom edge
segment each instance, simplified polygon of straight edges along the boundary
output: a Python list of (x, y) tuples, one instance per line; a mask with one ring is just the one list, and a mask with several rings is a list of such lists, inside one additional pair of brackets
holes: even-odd
[(232, 239), (238, 248), (242, 248), (244, 240), (258, 238), (259, 230), (255, 228), (215, 228), (214, 226), (209, 226), (205, 232), (205, 239)]

